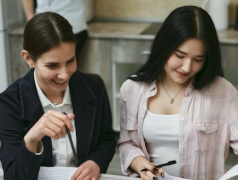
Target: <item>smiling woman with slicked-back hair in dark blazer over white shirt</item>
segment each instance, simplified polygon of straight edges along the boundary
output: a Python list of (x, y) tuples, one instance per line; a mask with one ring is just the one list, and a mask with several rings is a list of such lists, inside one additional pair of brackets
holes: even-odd
[(76, 71), (72, 27), (56, 13), (33, 17), (23, 46), (31, 70), (0, 94), (4, 179), (36, 180), (40, 166), (76, 166), (72, 180), (97, 179), (116, 145), (103, 81)]

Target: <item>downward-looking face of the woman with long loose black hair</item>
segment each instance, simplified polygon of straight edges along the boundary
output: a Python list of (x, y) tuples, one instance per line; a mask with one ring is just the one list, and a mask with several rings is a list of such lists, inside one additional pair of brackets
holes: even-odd
[(164, 80), (185, 83), (202, 70), (205, 60), (205, 44), (199, 39), (188, 39), (171, 54), (166, 62)]

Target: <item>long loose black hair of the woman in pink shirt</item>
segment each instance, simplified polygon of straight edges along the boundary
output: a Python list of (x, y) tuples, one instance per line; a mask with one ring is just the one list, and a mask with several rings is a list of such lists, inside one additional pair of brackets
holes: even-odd
[(134, 81), (152, 82), (163, 72), (170, 55), (189, 38), (198, 38), (207, 48), (203, 69), (195, 75), (193, 87), (202, 89), (216, 76), (224, 76), (219, 40), (209, 14), (200, 7), (183, 6), (172, 11), (158, 31), (148, 61), (129, 77)]

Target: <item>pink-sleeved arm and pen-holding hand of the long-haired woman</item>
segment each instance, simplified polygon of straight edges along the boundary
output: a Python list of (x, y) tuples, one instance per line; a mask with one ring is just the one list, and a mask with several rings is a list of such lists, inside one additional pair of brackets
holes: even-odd
[[(132, 98), (133, 90), (131, 88), (136, 88), (131, 81), (126, 81), (120, 91), (120, 117), (121, 117), (121, 127), (120, 127), (120, 138), (118, 141), (119, 155), (121, 159), (122, 172), (128, 176), (140, 176), (141, 179), (151, 179), (155, 177), (156, 173), (162, 173), (163, 169), (160, 168), (158, 171), (153, 171), (154, 164), (150, 163), (146, 158), (139, 140), (138, 135), (138, 122), (133, 117), (137, 112), (136, 107), (139, 107), (139, 93), (136, 94), (138, 101)], [(129, 92), (129, 93), (128, 93)], [(132, 102), (127, 104), (127, 102)], [(133, 108), (131, 108), (133, 106)], [(133, 111), (133, 112), (132, 112)], [(128, 112), (131, 114), (128, 115)], [(133, 115), (132, 115), (133, 114)], [(141, 169), (147, 168), (150, 171), (141, 172)], [(146, 177), (148, 176), (148, 177)]]

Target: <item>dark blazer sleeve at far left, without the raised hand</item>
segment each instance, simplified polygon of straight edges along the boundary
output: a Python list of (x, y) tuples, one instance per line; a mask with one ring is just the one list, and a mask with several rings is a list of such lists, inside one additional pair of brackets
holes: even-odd
[(20, 120), (18, 90), (0, 95), (0, 159), (5, 180), (36, 180), (43, 154), (35, 155), (24, 143), (25, 126)]

